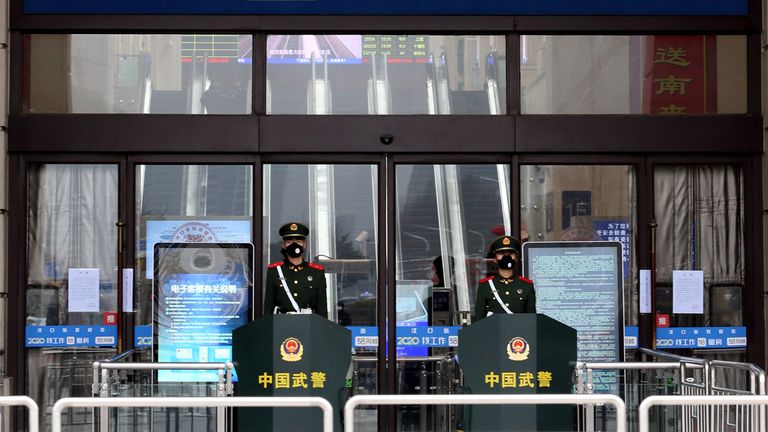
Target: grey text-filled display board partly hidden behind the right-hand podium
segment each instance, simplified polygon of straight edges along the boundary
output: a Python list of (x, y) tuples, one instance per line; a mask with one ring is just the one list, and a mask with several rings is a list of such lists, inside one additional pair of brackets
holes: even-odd
[[(536, 310), (576, 329), (578, 360), (623, 359), (621, 243), (527, 242), (523, 273), (533, 280)], [(595, 389), (615, 393), (613, 372), (596, 374)]]

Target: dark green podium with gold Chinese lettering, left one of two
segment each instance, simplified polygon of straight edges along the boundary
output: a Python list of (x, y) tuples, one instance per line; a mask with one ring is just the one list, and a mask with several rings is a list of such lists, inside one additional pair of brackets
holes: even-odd
[[(318, 315), (269, 315), (235, 329), (237, 396), (320, 396), (334, 407), (335, 430), (352, 362), (350, 331)], [(241, 408), (239, 432), (320, 431), (319, 408)]]

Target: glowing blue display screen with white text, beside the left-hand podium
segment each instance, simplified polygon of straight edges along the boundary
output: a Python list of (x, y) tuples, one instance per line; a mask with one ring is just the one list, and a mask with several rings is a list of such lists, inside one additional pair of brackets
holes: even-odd
[[(232, 331), (248, 322), (253, 245), (157, 243), (155, 361), (232, 361)], [(215, 382), (216, 371), (158, 371), (158, 382)]]

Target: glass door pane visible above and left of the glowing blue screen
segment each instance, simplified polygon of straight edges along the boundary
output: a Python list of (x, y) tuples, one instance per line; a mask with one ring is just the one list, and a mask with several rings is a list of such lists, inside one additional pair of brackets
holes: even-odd
[[(152, 322), (154, 244), (250, 243), (249, 165), (140, 165), (136, 168), (137, 324)], [(208, 237), (202, 237), (205, 233)]]

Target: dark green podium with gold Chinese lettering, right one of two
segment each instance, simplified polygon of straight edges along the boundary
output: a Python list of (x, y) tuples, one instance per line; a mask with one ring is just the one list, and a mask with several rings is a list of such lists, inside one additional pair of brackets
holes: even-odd
[[(576, 330), (539, 314), (495, 314), (459, 331), (459, 365), (472, 394), (572, 393)], [(573, 429), (561, 405), (474, 405), (472, 432)]]

